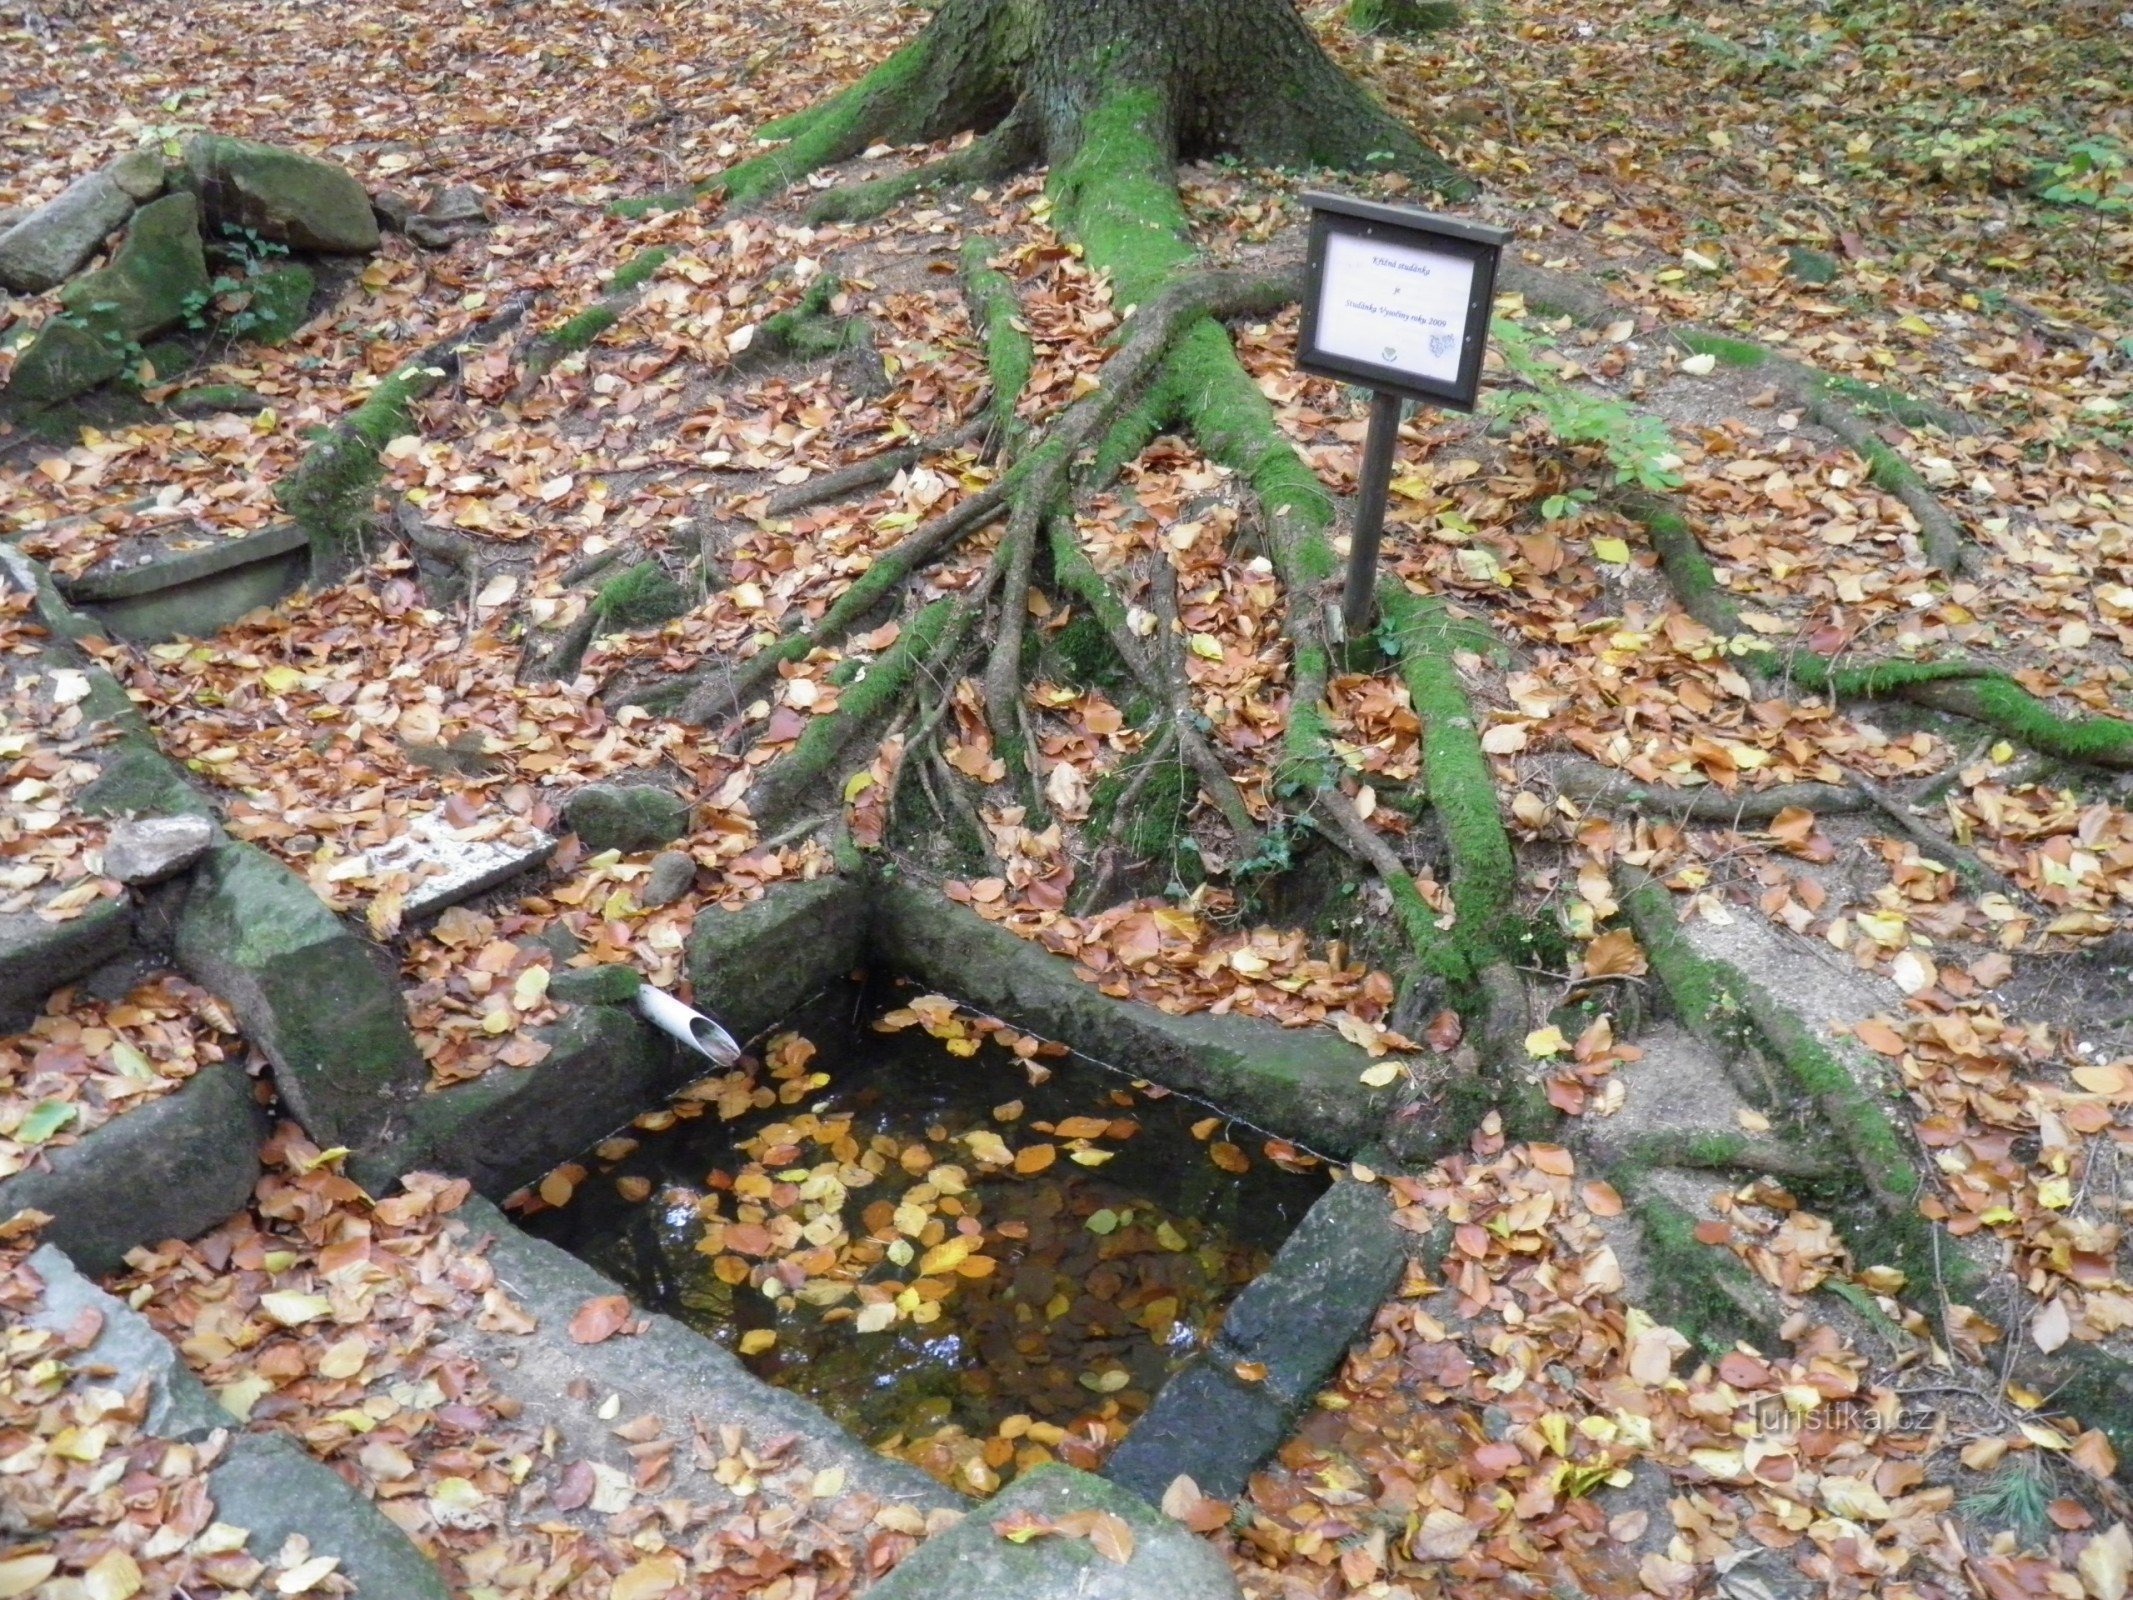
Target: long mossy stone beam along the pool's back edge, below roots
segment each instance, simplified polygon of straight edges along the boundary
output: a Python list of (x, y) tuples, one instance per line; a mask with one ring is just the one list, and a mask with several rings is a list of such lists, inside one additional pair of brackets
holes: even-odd
[(1378, 1139), (1391, 1099), (1359, 1082), (1369, 1056), (1322, 1028), (1180, 1018), (1113, 1001), (1058, 956), (913, 883), (879, 883), (870, 913), (875, 958), (941, 994), (1156, 1084), (1203, 1094), (1325, 1154), (1350, 1156)]

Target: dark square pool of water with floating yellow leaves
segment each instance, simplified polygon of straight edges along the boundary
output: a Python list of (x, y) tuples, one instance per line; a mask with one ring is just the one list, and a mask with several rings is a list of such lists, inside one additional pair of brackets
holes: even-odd
[(550, 1173), (525, 1225), (988, 1491), (1101, 1463), (1325, 1184), (1201, 1103), (875, 986)]

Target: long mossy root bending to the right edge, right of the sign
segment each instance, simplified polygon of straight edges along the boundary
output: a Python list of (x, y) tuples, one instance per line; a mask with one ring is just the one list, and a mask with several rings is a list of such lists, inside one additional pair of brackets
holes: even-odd
[(1668, 587), (1698, 623), (1730, 642), (1741, 666), (1768, 683), (1792, 683), (1832, 700), (1911, 700), (1994, 727), (2039, 755), (2133, 772), (2133, 723), (2118, 717), (2069, 717), (2052, 710), (2005, 672), (1977, 661), (1875, 661), (1837, 666), (1809, 651), (1753, 642), (1696, 531), (1657, 495), (1625, 495), (1623, 510), (1642, 523)]

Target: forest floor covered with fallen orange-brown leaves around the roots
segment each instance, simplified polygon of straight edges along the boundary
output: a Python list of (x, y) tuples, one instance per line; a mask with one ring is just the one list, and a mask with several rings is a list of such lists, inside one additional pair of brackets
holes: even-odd
[[(1457, 130), (1450, 154), (1493, 186), (1493, 213), (1521, 224), (1517, 256), (1613, 275), (1617, 318), (1563, 329), (1551, 361), (1566, 382), (1636, 399), (1672, 425), (1683, 499), (1753, 634), (1822, 653), (1964, 646), (2063, 706), (2122, 710), (2133, 627), (2118, 343), (2129, 241), (2112, 213), (2052, 207), (2024, 186), (2073, 139), (2116, 126), (2110, 85), (2122, 83), (2124, 47), (2103, 13), (2043, 26), (1954, 6), (1935, 9), (1928, 26), (1905, 6), (1851, 19), (1762, 6), (1704, 19), (1659, 6), (1506, 6), (1425, 45), (1354, 43), (1333, 17), (1322, 21), (1397, 109), (1425, 130)], [(887, 651), (894, 634), (787, 663), (757, 702), (729, 708), (717, 742), (599, 695), (819, 617), (902, 529), (988, 482), (977, 457), (943, 454), (870, 499), (761, 525), (776, 489), (883, 444), (934, 437), (977, 405), (983, 356), (953, 286), (960, 239), (985, 233), (1017, 282), (1039, 352), (1030, 414), (1071, 397), (1101, 363), (1096, 341), (1116, 326), (1107, 290), (1049, 233), (1028, 181), (966, 203), (913, 203), (868, 226), (813, 228), (796, 203), (751, 218), (712, 207), (642, 222), (606, 213), (610, 198), (715, 171), (753, 126), (849, 79), (904, 28), (894, 6), (776, 17), (584, 6), (563, 28), (555, 15), (439, 21), (335, 4), (290, 19), (286, 53), (260, 49), (256, 17), (213, 6), (190, 13), (175, 45), (143, 9), (38, 13), (13, 41), (21, 85), (6, 139), (23, 160), (0, 201), (53, 192), (145, 137), (213, 126), (311, 145), (373, 186), (471, 179), (499, 203), (497, 228), (446, 254), (388, 245), (290, 346), (222, 352), (207, 380), (252, 388), (269, 401), (258, 414), (87, 431), (11, 471), (0, 514), (62, 572), (87, 570), (147, 527), (177, 523), (181, 538), (213, 540), (264, 525), (271, 482), (305, 431), (343, 414), (412, 350), (518, 292), (542, 294), (538, 322), (552, 324), (640, 250), (676, 250), (582, 363), (561, 363), (514, 399), (510, 350), (478, 356), (420, 407), (418, 433), (388, 450), (392, 493), (482, 540), (471, 599), (427, 604), (412, 563), (384, 553), (284, 617), (211, 642), (107, 655), (166, 749), (222, 789), (232, 832), (277, 851), (382, 937), (401, 932), (395, 896), (410, 885), (373, 873), (369, 851), (418, 815), (442, 809), (459, 826), (508, 834), (552, 821), (550, 789), (616, 772), (663, 772), (697, 796), (687, 841), (697, 885), (678, 905), (636, 902), (644, 858), (565, 845), (529, 894), (401, 939), (439, 1084), (531, 1065), (523, 1047), (510, 1054), (516, 1030), (552, 1007), (525, 973), (570, 958), (529, 954), (523, 939), (561, 922), (578, 960), (631, 960), (672, 983), (697, 907), (828, 866), (813, 838), (764, 843), (738, 800), (755, 770), (834, 710), (840, 668)], [(143, 34), (158, 45), (134, 51)], [(378, 73), (386, 58), (388, 79)], [(1960, 70), (1950, 77), (1945, 62)], [(870, 164), (900, 160), (881, 151)], [(1188, 175), (1188, 205), (1216, 258), (1278, 247), (1295, 220), (1288, 192), (1248, 173)], [(1802, 282), (1800, 250), (1828, 256), (1828, 284)], [(719, 382), (764, 318), (821, 273), (883, 329), (887, 395), (851, 393), (813, 369)], [(15, 316), (34, 322), (51, 309), (32, 301)], [(1499, 314), (1546, 324), (1514, 301)], [(1982, 425), (1890, 422), (1883, 437), (1986, 550), (1984, 572), (1939, 580), (1913, 521), (1866, 465), (1753, 373), (1700, 367), (1662, 333), (1683, 320), (1894, 382)], [(1329, 486), (1348, 491), (1361, 416), (1340, 390), (1288, 369), (1290, 343), (1286, 320), (1239, 337), (1284, 429)], [(164, 375), (143, 378), (156, 393)], [(2043, 1397), (1992, 1385), (1986, 1346), (2107, 1338), (2133, 1321), (2118, 1222), (2133, 1073), (2116, 1060), (2127, 1043), (2116, 986), (2080, 954), (2116, 928), (2133, 883), (2122, 794), (2031, 762), (2011, 742), (1958, 747), (1935, 725), (1760, 698), (1726, 642), (1674, 606), (1617, 508), (1602, 499), (1538, 516), (1549, 497), (1602, 478), (1593, 459), (1561, 452), (1534, 425), (1495, 435), (1425, 418), (1408, 427), (1404, 461), (1389, 559), (1487, 625), (1463, 666), (1519, 826), (1525, 894), (1583, 945), (1559, 975), (1566, 992), (1581, 981), (1615, 992), (1640, 969), (1634, 943), (1625, 949), (1606, 926), (1608, 868), (1621, 862), (1659, 870), (1706, 917), (1764, 915), (1890, 977), (1896, 998), (1860, 1041), (1903, 1075), (1939, 1171), (1930, 1205), (1958, 1235), (1999, 1237), (2033, 1299), (2016, 1327), (1977, 1312), (1947, 1318), (1950, 1359), (1986, 1357), (1952, 1380), (1984, 1391), (1924, 1423), (1905, 1402), (1920, 1372), (1930, 1389), (1943, 1357), (1890, 1361), (1817, 1327), (1819, 1312), (1794, 1318), (1785, 1357), (1700, 1363), (1623, 1299), (1604, 1233), (1621, 1199), (1581, 1182), (1566, 1152), (1504, 1146), (1485, 1131), (1440, 1171), (1393, 1180), (1401, 1220), (1418, 1239), (1450, 1227), (1450, 1252), (1416, 1267), (1310, 1425), (1212, 1536), (1246, 1587), (1267, 1596), (1523, 1591), (1563, 1570), (1600, 1589), (1655, 1594), (1713, 1572), (1728, 1591), (1777, 1591), (1798, 1581), (1792, 1572), (1832, 1594), (2118, 1600), (2129, 1542), (2103, 1481), (2107, 1446), (2080, 1421), (2043, 1421)], [(1218, 469), (1158, 442), (1111, 499), (1084, 508), (1081, 525), (1101, 565), (1133, 574), (1137, 629), (1145, 621), (1154, 631), (1158, 563), (1177, 574), (1192, 702), (1267, 821), (1280, 806), (1269, 742), (1288, 715), (1286, 653), (1269, 621), (1282, 595), (1235, 538), (1237, 514)], [(589, 597), (563, 572), (616, 546), (676, 572), (697, 563), (702, 604), (657, 629), (597, 640), (574, 681), (520, 681), (520, 629), (567, 627)], [(977, 582), (985, 557), (975, 542), (924, 580), (921, 597)], [(1071, 621), (1054, 612), (1039, 627)], [(1397, 802), (1421, 732), (1406, 687), (1342, 676), (1327, 710), (1357, 809), (1404, 847)], [(990, 796), (979, 843), (992, 870), (958, 873), (949, 894), (1073, 956), (1111, 992), (1331, 1024), (1404, 1058), (1408, 1041), (1386, 1028), (1391, 979), (1346, 945), (1254, 930), (1220, 885), (1184, 894), (1190, 862), (1158, 862), (1139, 883), (1145, 900), (1069, 911), (1077, 881), (1098, 868), (1071, 823), (1145, 736), (1092, 685), (1032, 685), (1030, 717), (1054, 821), (1032, 828), (1011, 798)], [(439, 755), (454, 749), (478, 753), (478, 770)], [(2020, 894), (1964, 892), (1877, 823), (1589, 817), (1551, 796), (1551, 759), (1566, 753), (1647, 783), (1728, 791), (1847, 772), (1941, 783), (1932, 794), (1945, 832)], [(30, 762), (11, 768), (11, 787), (47, 785), (28, 798), (64, 819), (64, 749), (6, 757)], [(898, 757), (883, 749), (875, 787), (896, 777)], [(968, 687), (956, 698), (947, 762), (977, 781), (998, 777)], [(43, 806), (47, 798), (60, 804)], [(868, 804), (864, 789), (851, 802), (862, 838)], [(1194, 832), (1201, 858), (1222, 864), (1224, 826), (1197, 819)], [(34, 834), (6, 841), (11, 870), (36, 870), (38, 887), (77, 887), (81, 905), (107, 892), (92, 830), (64, 819)], [(1425, 898), (1448, 911), (1429, 862), (1416, 866)], [(68, 996), (47, 1015), (43, 1037), (77, 1050), (111, 1030)], [(1627, 1052), (1593, 1028), (1576, 1043), (1555, 1035), (1536, 1045), (1551, 1099), (1589, 1116), (1619, 1105), (1619, 1084), (1608, 1084)], [(1429, 1043), (1450, 1050), (1457, 1037), (1440, 1030)], [(173, 1039), (141, 1052), (158, 1075), (183, 1056)], [(11, 1079), (17, 1137), (23, 1116), (79, 1092)], [(817, 1485), (774, 1472), (738, 1517), (721, 1506), (676, 1521), (663, 1502), (651, 1515), (627, 1500), (606, 1523), (580, 1510), (565, 1532), (548, 1532), (506, 1515), (514, 1495), (529, 1510), (525, 1485), (559, 1483), (563, 1466), (480, 1408), (478, 1372), (422, 1376), (439, 1293), (510, 1321), (480, 1257), (452, 1237), (450, 1186), (369, 1201), (301, 1141), (284, 1139), (279, 1154), (288, 1165), (262, 1184), (256, 1214), (143, 1259), (134, 1293), (256, 1425), (294, 1431), (397, 1506), (454, 1587), (604, 1594), (619, 1577), (629, 1594), (659, 1594), (753, 1564), (747, 1581), (772, 1591), (836, 1591), (924, 1532), (868, 1521), (864, 1506), (834, 1495), (828, 1517), (811, 1521), (796, 1513)], [(1711, 1248), (1732, 1244), (1787, 1293), (1832, 1276), (1869, 1295), (1886, 1289), (1877, 1263), (1845, 1259), (1811, 1212), (1768, 1184), (1723, 1197), (1723, 1210), (1738, 1227), (1715, 1229)], [(346, 1299), (328, 1295), (331, 1338), (326, 1316), (288, 1325), (260, 1310), (273, 1293), (318, 1293), (358, 1257)], [(358, 1355), (350, 1338), (363, 1340), (356, 1372), (343, 1372)], [(352, 1402), (373, 1380), (390, 1408), (373, 1417), (386, 1402), (360, 1402), (358, 1425)], [(439, 1421), (461, 1389), (474, 1399)], [(1770, 1434), (1760, 1423), (1773, 1404), (1843, 1425)], [(380, 1421), (380, 1449), (358, 1442)], [(742, 1461), (744, 1449), (712, 1455)], [(533, 1466), (520, 1472), (520, 1459)], [(2046, 1519), (1956, 1515), (1971, 1474), (2003, 1483), (2009, 1466), (2048, 1487)], [(740, 1476), (751, 1474), (742, 1463)], [(1602, 1493), (1625, 1474), (1664, 1474), (1668, 1489), (1640, 1500), (1636, 1483), (1621, 1483)], [(1613, 1493), (1638, 1504), (1610, 1508), (1621, 1504)], [(495, 1517), (469, 1510), (491, 1502)], [(1194, 1521), (1199, 1506), (1182, 1495), (1177, 1510)], [(139, 1549), (139, 1527), (100, 1525), (109, 1549)], [(94, 1559), (102, 1555), (83, 1547), (81, 1564)]]

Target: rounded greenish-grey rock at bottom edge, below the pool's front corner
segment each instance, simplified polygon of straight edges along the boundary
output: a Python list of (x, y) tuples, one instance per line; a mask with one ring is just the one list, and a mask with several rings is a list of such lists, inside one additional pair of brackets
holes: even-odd
[[(1086, 1538), (1000, 1538), (1015, 1513), (1109, 1513), (1133, 1530), (1124, 1564)], [(1024, 1472), (956, 1527), (934, 1534), (866, 1591), (870, 1600), (1237, 1600), (1237, 1579), (1214, 1545), (1122, 1489), (1066, 1466)]]

